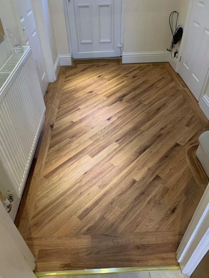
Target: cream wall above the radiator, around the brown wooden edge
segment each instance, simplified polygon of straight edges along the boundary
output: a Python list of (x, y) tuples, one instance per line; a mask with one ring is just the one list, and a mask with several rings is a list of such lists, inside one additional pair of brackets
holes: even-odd
[(5, 32), (5, 36), (2, 39), (0, 39), (1, 68), (13, 52), (13, 47), (7, 36), (6, 28), (18, 26), (12, 5), (12, 0), (0, 0), (0, 18)]

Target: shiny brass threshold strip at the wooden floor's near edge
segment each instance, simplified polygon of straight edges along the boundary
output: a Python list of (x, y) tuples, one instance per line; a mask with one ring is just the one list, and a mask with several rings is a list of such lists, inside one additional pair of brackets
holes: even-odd
[(110, 274), (124, 272), (148, 272), (148, 271), (166, 271), (179, 270), (179, 266), (139, 266), (139, 267), (118, 267), (118, 268), (98, 268), (98, 269), (81, 269), (81, 270), (63, 270), (63, 271), (46, 271), (35, 272), (36, 277), (62, 277), (78, 276), (93, 274)]

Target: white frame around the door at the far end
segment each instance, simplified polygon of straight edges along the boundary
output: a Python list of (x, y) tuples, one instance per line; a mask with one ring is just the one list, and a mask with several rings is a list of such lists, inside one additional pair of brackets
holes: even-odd
[[(69, 48), (69, 53), (71, 54), (71, 57), (73, 58), (73, 47), (72, 47), (71, 31), (70, 31), (70, 25), (69, 25), (68, 6), (67, 6), (68, 1), (69, 0), (63, 0), (63, 7), (64, 7), (66, 29), (67, 29), (68, 48)], [(71, 0), (71, 1), (73, 1), (73, 0)], [(124, 37), (125, 3), (126, 3), (126, 0), (121, 0), (120, 43), (122, 44), (122, 48), (123, 48), (123, 37)], [(122, 56), (122, 51), (123, 50), (121, 49), (120, 56)], [(105, 59), (105, 58), (103, 58), (103, 59)]]

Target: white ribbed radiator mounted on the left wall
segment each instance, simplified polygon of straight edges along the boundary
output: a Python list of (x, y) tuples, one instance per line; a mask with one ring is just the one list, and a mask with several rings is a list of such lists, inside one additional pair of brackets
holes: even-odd
[(24, 47), (0, 69), (0, 191), (5, 198), (13, 194), (20, 201), (45, 109), (31, 49)]

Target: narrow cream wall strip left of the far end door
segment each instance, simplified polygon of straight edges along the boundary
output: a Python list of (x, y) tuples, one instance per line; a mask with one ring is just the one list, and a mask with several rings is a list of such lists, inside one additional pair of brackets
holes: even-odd
[(54, 26), (57, 52), (59, 55), (69, 54), (63, 0), (49, 0), (49, 7)]

